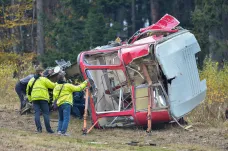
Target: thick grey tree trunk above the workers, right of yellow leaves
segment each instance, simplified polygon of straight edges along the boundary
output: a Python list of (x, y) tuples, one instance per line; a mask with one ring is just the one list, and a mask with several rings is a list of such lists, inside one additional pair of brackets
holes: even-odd
[(37, 10), (37, 53), (44, 54), (43, 0), (36, 1)]

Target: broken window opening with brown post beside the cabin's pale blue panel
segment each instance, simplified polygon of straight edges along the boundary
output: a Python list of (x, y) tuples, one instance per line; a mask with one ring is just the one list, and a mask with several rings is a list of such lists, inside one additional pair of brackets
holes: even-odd
[[(163, 87), (163, 81), (160, 75), (160, 69), (155, 60), (150, 56), (135, 59), (126, 66), (128, 75), (132, 84), (135, 86), (135, 105), (136, 111), (147, 110), (150, 94), (153, 94), (153, 109), (166, 108), (167, 92)], [(153, 91), (149, 88), (152, 84)], [(151, 92), (149, 92), (151, 90)]]

